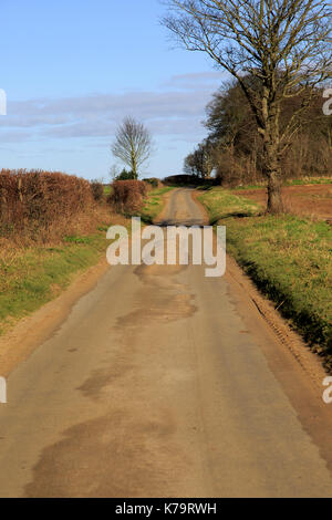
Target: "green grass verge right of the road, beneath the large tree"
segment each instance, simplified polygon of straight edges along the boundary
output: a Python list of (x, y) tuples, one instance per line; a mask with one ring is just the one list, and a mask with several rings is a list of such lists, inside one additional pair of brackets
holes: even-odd
[(332, 372), (331, 226), (260, 215), (258, 204), (220, 188), (198, 198), (212, 223), (227, 226), (228, 252)]

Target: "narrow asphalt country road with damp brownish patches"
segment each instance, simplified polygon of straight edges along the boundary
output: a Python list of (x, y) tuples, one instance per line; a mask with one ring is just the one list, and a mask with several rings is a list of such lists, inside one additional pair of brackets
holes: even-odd
[[(189, 190), (163, 218), (204, 223)], [(328, 405), (246, 294), (204, 269), (110, 268), (19, 364), (1, 497), (332, 496)]]

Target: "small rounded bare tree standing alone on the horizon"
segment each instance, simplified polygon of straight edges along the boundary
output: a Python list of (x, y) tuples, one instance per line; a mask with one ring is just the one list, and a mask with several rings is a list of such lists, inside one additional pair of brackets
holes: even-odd
[(148, 159), (153, 150), (148, 129), (132, 117), (126, 117), (118, 127), (112, 153), (132, 169), (138, 178), (139, 167)]

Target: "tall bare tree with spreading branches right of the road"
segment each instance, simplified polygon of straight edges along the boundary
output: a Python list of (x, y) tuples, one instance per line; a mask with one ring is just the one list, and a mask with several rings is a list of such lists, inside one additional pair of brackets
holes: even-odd
[[(190, 51), (206, 52), (235, 76), (262, 137), (268, 210), (280, 212), (280, 159), (298, 132), (298, 116), (331, 74), (331, 11), (321, 0), (166, 0), (164, 24)], [(281, 127), (283, 100), (301, 106)]]

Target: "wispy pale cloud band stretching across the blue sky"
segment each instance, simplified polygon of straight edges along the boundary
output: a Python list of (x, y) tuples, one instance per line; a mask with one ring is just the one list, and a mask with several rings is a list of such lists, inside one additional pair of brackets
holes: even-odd
[(201, 133), (205, 106), (222, 76), (218, 72), (181, 74), (155, 92), (9, 102), (8, 115), (0, 119), (0, 141), (110, 138), (126, 115), (144, 121), (156, 136), (193, 141)]

